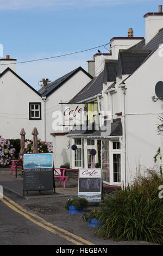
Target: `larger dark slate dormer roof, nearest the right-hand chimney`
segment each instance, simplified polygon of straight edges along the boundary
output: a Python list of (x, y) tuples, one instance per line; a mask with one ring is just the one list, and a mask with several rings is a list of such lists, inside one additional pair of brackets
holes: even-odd
[(129, 75), (136, 70), (140, 64), (148, 57), (151, 51), (128, 51), (120, 50), (118, 54), (116, 76)]

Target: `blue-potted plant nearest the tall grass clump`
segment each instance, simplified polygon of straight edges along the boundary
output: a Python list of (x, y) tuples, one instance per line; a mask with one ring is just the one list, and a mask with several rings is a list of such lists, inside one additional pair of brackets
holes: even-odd
[(102, 225), (101, 221), (98, 220), (98, 211), (97, 210), (92, 210), (89, 215), (84, 214), (83, 221), (89, 222), (88, 227), (99, 228)]

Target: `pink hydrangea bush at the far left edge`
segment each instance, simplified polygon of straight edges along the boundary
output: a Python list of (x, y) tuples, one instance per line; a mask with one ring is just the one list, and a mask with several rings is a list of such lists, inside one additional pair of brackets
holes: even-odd
[(10, 159), (14, 156), (15, 149), (10, 144), (8, 139), (0, 136), (0, 166), (7, 166), (10, 164)]

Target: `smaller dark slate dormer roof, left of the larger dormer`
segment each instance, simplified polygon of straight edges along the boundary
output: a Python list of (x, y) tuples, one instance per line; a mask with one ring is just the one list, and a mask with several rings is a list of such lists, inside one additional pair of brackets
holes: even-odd
[(117, 60), (105, 60), (103, 83), (116, 81)]

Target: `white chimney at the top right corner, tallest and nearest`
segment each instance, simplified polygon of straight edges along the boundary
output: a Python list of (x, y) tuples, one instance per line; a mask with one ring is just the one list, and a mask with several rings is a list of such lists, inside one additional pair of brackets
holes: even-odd
[(146, 21), (146, 44), (163, 28), (162, 5), (159, 5), (158, 13), (144, 15)]

